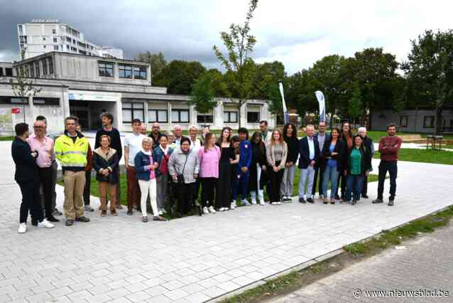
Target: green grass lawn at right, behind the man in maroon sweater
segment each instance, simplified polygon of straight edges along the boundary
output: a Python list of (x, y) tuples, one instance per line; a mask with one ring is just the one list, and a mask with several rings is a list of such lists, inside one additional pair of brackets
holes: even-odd
[[(378, 152), (374, 158), (379, 159)], [(398, 160), (453, 165), (453, 152), (437, 149), (400, 149)]]

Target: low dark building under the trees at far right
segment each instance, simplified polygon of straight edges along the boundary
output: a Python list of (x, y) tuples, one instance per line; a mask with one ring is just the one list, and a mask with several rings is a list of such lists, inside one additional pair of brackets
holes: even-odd
[[(403, 110), (392, 112), (381, 110), (374, 112), (371, 117), (371, 129), (386, 130), (386, 125), (393, 122), (398, 125), (400, 132), (416, 132), (430, 134), (435, 128), (435, 110), (425, 108), (420, 110)], [(442, 110), (441, 132), (453, 133), (453, 108)]]

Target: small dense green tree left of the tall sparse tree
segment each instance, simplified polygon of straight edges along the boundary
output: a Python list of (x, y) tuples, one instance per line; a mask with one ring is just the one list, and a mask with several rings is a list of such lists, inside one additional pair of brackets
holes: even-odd
[[(216, 107), (214, 101), (213, 79), (210, 73), (205, 73), (201, 78), (195, 80), (190, 92), (189, 105), (195, 105), (195, 110), (200, 114), (206, 114), (209, 110)], [(204, 115), (204, 124), (206, 124), (206, 115)]]

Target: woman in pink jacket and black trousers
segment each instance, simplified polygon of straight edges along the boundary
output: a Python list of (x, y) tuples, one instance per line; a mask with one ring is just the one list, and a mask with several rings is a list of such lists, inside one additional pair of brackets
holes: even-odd
[(200, 161), (200, 179), (202, 181), (203, 213), (216, 213), (214, 192), (219, 179), (220, 148), (215, 144), (215, 134), (208, 132), (204, 137), (203, 147), (198, 151)]

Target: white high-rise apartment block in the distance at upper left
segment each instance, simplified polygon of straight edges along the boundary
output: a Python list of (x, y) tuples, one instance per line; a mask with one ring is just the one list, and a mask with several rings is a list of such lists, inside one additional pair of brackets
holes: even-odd
[(83, 33), (57, 19), (33, 19), (31, 23), (18, 24), (17, 32), (21, 59), (53, 51), (124, 58), (123, 50), (97, 46), (87, 41)]

